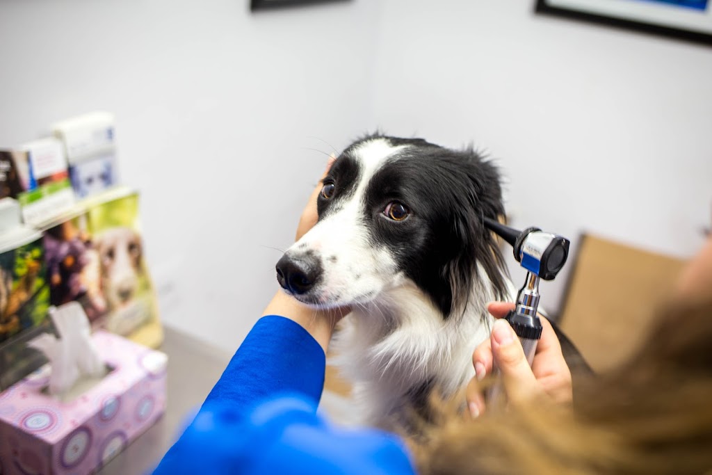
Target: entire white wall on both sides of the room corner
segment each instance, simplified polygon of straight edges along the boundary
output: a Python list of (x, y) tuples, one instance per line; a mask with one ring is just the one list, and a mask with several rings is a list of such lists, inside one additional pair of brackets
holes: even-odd
[(712, 48), (535, 17), (529, 0), (247, 3), (0, 2), (0, 145), (116, 114), (165, 322), (234, 349), (325, 142), (376, 126), (491, 152), (514, 224), (679, 256), (701, 243)]

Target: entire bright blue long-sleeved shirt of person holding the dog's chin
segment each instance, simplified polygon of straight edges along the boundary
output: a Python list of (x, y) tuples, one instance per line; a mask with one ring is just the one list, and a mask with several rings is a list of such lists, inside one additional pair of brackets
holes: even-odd
[(316, 409), (325, 355), (300, 325), (258, 320), (155, 474), (414, 474), (403, 442)]

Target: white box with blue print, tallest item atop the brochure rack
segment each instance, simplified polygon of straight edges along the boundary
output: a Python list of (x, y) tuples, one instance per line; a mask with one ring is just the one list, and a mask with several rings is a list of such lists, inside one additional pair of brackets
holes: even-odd
[(112, 114), (95, 112), (56, 122), (52, 133), (64, 146), (77, 197), (97, 194), (118, 183)]

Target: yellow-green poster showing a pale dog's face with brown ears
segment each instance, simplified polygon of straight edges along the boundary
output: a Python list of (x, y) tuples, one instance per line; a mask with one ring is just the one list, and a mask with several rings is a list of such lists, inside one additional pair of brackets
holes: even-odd
[(86, 219), (105, 304), (102, 325), (156, 347), (163, 332), (144, 259), (138, 194), (120, 190), (100, 195), (88, 202)]

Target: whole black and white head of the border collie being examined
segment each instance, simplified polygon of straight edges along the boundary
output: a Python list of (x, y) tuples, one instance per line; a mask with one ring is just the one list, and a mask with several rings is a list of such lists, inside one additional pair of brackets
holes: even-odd
[(368, 303), (409, 280), (448, 316), (464, 309), (479, 278), (495, 295), (506, 291), (482, 222), (503, 214), (499, 175), (472, 150), (366, 137), (323, 179), (318, 214), (277, 263), (280, 285), (303, 303)]

